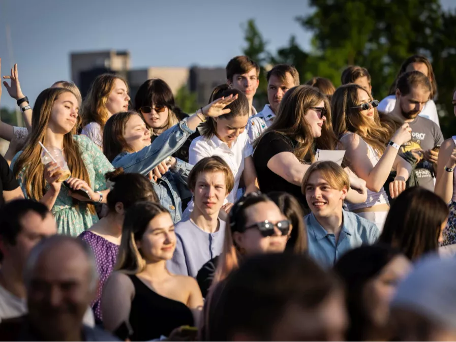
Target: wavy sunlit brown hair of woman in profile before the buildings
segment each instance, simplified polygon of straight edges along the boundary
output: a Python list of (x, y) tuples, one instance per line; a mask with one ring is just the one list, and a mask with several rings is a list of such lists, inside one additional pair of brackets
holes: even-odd
[(129, 91), (127, 80), (113, 74), (97, 76), (92, 85), (90, 85), (80, 111), (82, 127), (87, 126), (90, 122), (96, 122), (102, 129), (104, 128), (109, 116), (106, 103), (108, 102), (109, 94), (114, 90), (115, 80), (117, 79), (123, 81), (127, 86), (127, 91)]

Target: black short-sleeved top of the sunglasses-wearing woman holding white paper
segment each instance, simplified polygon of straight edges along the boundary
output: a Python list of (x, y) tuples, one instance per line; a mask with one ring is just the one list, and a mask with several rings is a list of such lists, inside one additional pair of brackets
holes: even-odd
[(267, 194), (272, 191), (287, 192), (301, 203), (303, 209), (307, 209), (306, 196), (302, 195), (301, 187), (294, 185), (278, 174), (272, 172), (267, 163), (269, 159), (281, 152), (293, 153), (297, 142), (276, 132), (266, 133), (258, 143), (253, 153), (253, 162), (257, 171), (258, 183), (262, 193)]

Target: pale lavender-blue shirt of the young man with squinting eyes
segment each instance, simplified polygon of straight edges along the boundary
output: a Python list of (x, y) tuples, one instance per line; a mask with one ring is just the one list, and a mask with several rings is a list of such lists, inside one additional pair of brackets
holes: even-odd
[(207, 233), (192, 220), (175, 226), (176, 249), (166, 267), (171, 273), (196, 277), (206, 262), (222, 253), (225, 239), (225, 222), (219, 220), (219, 230)]

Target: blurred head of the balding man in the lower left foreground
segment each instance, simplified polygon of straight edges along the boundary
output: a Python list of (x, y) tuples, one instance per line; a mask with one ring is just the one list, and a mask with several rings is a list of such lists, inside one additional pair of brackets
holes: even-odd
[(89, 261), (74, 242), (52, 245), (31, 270), (27, 289), (28, 313), (39, 334), (64, 340), (80, 329), (94, 297)]

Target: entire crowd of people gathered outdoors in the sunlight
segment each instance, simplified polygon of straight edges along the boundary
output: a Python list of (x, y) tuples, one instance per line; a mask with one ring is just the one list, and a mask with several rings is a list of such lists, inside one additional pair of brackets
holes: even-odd
[(193, 114), (162, 79), (57, 81), (32, 108), (3, 77), (25, 127), (0, 120), (1, 340), (456, 342), (430, 61), (381, 101), (361, 66), (338, 88), (272, 66), (257, 112), (259, 76), (232, 58)]

